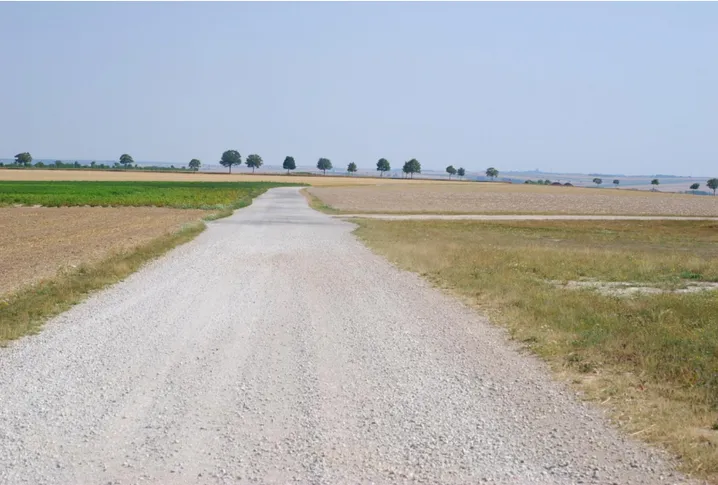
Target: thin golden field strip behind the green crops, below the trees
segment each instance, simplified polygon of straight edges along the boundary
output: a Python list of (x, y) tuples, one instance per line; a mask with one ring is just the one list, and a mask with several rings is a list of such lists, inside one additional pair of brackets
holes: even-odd
[[(426, 179), (392, 179), (389, 177), (337, 177), (248, 173), (204, 172), (141, 172), (102, 170), (10, 170), (0, 169), (0, 180), (93, 180), (93, 181), (144, 181), (144, 182), (284, 182), (316, 186), (334, 185), (422, 185), (442, 183)], [(443, 182), (446, 184), (446, 182)], [(451, 185), (476, 184), (476, 182), (452, 182)]]

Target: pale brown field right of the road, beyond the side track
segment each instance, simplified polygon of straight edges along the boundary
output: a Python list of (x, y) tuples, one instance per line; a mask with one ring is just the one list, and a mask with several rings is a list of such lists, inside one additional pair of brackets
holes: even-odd
[(516, 184), (312, 187), (345, 213), (718, 216), (718, 197)]

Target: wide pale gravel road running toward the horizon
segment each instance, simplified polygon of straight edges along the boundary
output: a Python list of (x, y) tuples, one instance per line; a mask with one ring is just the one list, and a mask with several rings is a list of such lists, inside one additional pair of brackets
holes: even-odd
[(677, 483), (504, 334), (272, 189), (0, 349), (0, 483)]

